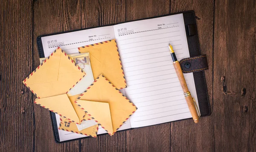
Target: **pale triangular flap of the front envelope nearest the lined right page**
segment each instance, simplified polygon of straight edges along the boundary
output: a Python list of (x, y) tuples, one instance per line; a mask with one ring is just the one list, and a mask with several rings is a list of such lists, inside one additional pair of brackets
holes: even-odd
[(79, 107), (83, 107), (84, 111), (99, 125), (102, 126), (110, 134), (113, 133), (112, 119), (109, 104), (105, 102), (77, 100)]

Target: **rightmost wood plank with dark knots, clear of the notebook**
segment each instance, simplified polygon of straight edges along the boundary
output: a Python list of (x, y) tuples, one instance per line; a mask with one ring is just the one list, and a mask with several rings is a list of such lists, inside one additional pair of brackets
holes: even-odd
[(213, 116), (216, 151), (255, 151), (255, 25), (255, 0), (215, 1)]

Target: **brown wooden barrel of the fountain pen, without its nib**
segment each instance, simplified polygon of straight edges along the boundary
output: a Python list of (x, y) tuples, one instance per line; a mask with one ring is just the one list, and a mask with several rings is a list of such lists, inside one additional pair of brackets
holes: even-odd
[[(180, 81), (180, 85), (181, 85), (184, 93), (189, 92), (188, 86), (186, 84), (185, 78), (184, 78), (182, 70), (180, 68), (180, 63), (179, 62), (173, 62), (173, 65), (174, 65), (174, 68), (176, 70), (178, 79)], [(192, 118), (193, 118), (194, 122), (198, 123), (199, 117), (198, 117), (198, 113), (196, 111), (195, 104), (194, 104), (194, 101), (192, 99), (192, 96), (191, 95), (185, 96), (185, 99), (186, 99), (186, 102), (188, 104), (189, 111), (190, 111), (190, 113), (192, 115)]]

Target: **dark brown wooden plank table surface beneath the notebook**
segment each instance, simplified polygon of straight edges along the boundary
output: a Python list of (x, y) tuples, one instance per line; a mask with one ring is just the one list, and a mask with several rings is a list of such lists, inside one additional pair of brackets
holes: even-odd
[[(36, 37), (194, 10), (212, 115), (56, 144), (49, 111), (22, 84)], [(0, 151), (256, 151), (255, 0), (1, 0)]]

